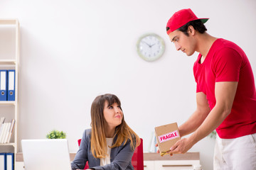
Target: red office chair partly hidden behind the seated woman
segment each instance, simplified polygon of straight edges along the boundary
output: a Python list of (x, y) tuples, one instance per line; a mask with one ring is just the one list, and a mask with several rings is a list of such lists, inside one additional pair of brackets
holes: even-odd
[[(134, 166), (134, 170), (144, 170), (144, 159), (143, 159), (143, 140), (140, 138), (141, 144), (136, 147), (134, 150), (134, 154), (132, 155), (132, 166)], [(78, 140), (78, 146), (80, 146), (81, 139)], [(85, 164), (84, 169), (88, 169), (88, 162)]]

